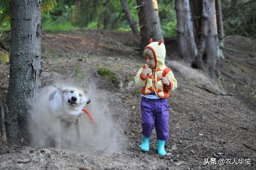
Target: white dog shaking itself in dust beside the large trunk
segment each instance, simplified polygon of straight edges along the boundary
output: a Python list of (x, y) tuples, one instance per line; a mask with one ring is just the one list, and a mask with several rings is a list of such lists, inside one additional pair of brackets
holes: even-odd
[(39, 146), (47, 145), (48, 141), (43, 141), (43, 135), (39, 133), (44, 129), (54, 139), (55, 148), (61, 148), (61, 139), (70, 139), (69, 132), (74, 125), (76, 142), (79, 147), (82, 147), (79, 117), (83, 114), (82, 109), (85, 105), (90, 103), (89, 93), (74, 87), (44, 89), (32, 115), (32, 119), (37, 124), (37, 130), (31, 129), (34, 142)]

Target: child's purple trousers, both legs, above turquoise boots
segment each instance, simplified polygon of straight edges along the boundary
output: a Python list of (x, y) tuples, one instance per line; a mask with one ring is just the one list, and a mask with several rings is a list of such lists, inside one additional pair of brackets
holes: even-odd
[(156, 127), (158, 140), (169, 139), (169, 105), (167, 99), (148, 99), (142, 97), (141, 103), (142, 134), (151, 136), (152, 129)]

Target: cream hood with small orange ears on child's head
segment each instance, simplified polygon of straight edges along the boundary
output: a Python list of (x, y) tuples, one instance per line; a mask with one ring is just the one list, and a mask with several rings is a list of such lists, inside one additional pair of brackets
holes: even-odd
[(149, 40), (150, 44), (148, 44), (146, 48), (150, 48), (154, 54), (155, 64), (157, 69), (158, 67), (162, 67), (164, 65), (164, 59), (166, 55), (166, 49), (162, 40), (159, 42), (152, 42), (152, 38)]

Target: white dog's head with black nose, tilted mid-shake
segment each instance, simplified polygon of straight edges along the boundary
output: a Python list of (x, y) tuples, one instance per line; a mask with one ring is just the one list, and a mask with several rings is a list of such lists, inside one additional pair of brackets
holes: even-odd
[(64, 103), (68, 103), (72, 107), (85, 106), (90, 103), (90, 98), (87, 90), (76, 88), (62, 88), (62, 99)]

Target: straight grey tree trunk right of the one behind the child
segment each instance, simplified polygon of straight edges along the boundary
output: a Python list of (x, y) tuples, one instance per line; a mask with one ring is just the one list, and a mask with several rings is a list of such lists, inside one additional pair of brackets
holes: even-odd
[(192, 63), (198, 55), (194, 39), (193, 22), (189, 0), (176, 0), (178, 53), (187, 62)]

